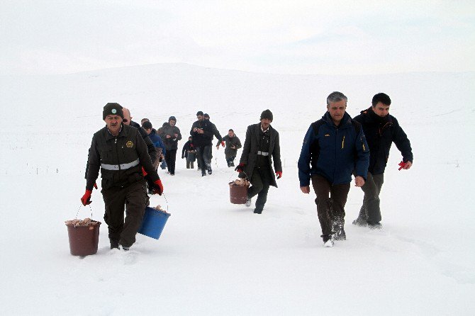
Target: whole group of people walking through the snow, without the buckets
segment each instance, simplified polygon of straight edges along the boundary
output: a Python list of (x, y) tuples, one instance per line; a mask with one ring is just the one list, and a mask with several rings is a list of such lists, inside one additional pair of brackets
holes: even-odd
[[(389, 114), (391, 99), (386, 94), (376, 94), (371, 106), (355, 118), (346, 112), (347, 97), (341, 92), (333, 92), (326, 102), (327, 111), (311, 124), (303, 138), (298, 179), (303, 193), (310, 193), (312, 183), (323, 244), (333, 247), (335, 240), (346, 239), (345, 204), (352, 176), (355, 186), (364, 191), (362, 208), (352, 223), (381, 228), (379, 193), (391, 144), (394, 142), (403, 156), (400, 170), (410, 169), (413, 154), (406, 133)], [(196, 157), (201, 176), (212, 174), (213, 137), (218, 140), (218, 149), (225, 147), (228, 167), (235, 167), (234, 159), (242, 146), (234, 131), (230, 129), (228, 135), (221, 137), (209, 115), (199, 111), (196, 118), (181, 152), (186, 168), (194, 169)], [(169, 174), (174, 175), (181, 132), (174, 116), (158, 130), (146, 118), (140, 126), (131, 120), (130, 111), (118, 103), (104, 106), (103, 119), (106, 126), (94, 134), (89, 149), (86, 192), (81, 201), (83, 205), (91, 203), (100, 169), (111, 249), (128, 250), (135, 242), (148, 205), (146, 188), (151, 194), (163, 192), (157, 174), (162, 159)], [(271, 125), (273, 119), (273, 113), (265, 110), (259, 123), (247, 127), (240, 161), (235, 167), (239, 177), (251, 184), (246, 206), (250, 207), (252, 198), (257, 196), (256, 214), (262, 214), (269, 187), (277, 187), (276, 179), (282, 177), (279, 132)]]

